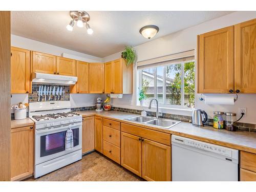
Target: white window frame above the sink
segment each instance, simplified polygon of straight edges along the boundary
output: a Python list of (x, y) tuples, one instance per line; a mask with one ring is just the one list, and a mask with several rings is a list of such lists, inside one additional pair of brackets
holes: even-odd
[[(194, 64), (196, 65), (195, 59), (186, 60), (186, 61), (178, 61), (178, 62), (170, 64), (170, 65), (181, 64), (181, 105), (166, 103), (166, 86), (164, 86), (164, 85), (166, 84), (166, 67), (170, 66), (170, 65), (163, 66), (164, 67), (164, 69), (163, 69), (163, 103), (158, 103), (160, 108), (193, 109), (193, 108), (186, 107), (184, 105), (184, 64), (187, 62), (194, 62)], [(157, 98), (157, 68), (160, 66), (161, 65), (154, 66), (151, 68), (145, 68), (145, 69), (154, 69), (154, 98)], [(142, 70), (144, 70), (144, 69), (139, 69), (139, 88), (140, 89), (142, 88)], [(196, 68), (194, 68), (194, 72), (195, 71), (196, 71)], [(196, 77), (196, 74), (195, 74), (195, 77)], [(195, 81), (196, 81), (196, 79), (195, 79)], [(195, 81), (194, 81), (194, 83), (195, 83)], [(155, 102), (153, 102), (153, 103), (154, 103), (153, 106), (156, 106)], [(147, 105), (143, 105), (143, 106), (147, 106)]]

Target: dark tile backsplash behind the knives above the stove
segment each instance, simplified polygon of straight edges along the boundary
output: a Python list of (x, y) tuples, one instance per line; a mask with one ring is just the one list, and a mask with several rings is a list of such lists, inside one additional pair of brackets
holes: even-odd
[[(44, 84), (44, 83), (32, 83), (32, 93), (29, 94), (29, 102), (37, 102), (38, 101), (38, 89), (39, 89), (39, 86), (46, 86), (50, 87), (52, 86), (52, 89), (53, 87), (55, 86), (55, 92), (57, 90), (57, 88), (59, 87), (62, 87), (63, 90), (62, 90), (62, 96), (61, 96), (61, 101), (69, 101), (70, 100), (70, 87), (69, 86), (60, 86), (58, 84)], [(63, 98), (63, 91), (65, 91), (65, 96)], [(51, 100), (53, 99), (53, 97), (51, 96)], [(54, 97), (54, 99), (56, 99), (56, 96)], [(45, 96), (42, 95), (42, 101), (45, 100)]]

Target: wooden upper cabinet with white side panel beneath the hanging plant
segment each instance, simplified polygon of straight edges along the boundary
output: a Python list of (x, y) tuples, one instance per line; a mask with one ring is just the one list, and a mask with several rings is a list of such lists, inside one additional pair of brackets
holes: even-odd
[(133, 65), (126, 66), (124, 59), (105, 63), (105, 93), (133, 93)]

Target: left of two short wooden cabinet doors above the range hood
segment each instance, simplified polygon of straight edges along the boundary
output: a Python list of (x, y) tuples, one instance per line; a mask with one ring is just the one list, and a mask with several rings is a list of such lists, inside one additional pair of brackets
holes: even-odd
[(32, 51), (32, 72), (56, 73), (56, 56)]

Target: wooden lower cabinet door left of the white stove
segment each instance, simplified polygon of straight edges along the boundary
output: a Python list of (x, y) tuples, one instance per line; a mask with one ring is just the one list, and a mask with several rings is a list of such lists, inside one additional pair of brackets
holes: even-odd
[(34, 127), (11, 130), (11, 181), (22, 180), (34, 172)]

